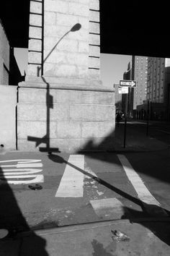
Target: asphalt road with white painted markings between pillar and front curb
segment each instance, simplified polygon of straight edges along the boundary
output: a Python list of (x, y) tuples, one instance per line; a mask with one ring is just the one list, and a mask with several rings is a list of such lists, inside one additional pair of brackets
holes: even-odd
[[(169, 159), (169, 150), (91, 153), (76, 158), (68, 154), (6, 153), (0, 156), (0, 226), (46, 229), (146, 217), (150, 214), (141, 203), (145, 199), (153, 204), (156, 200), (169, 214)], [(32, 170), (34, 174), (27, 173)]]

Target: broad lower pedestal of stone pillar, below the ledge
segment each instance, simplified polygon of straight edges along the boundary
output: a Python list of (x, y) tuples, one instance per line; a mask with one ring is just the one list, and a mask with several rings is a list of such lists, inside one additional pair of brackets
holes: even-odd
[(19, 88), (17, 108), (18, 149), (39, 150), (48, 143), (75, 153), (113, 146), (115, 104), (110, 91)]

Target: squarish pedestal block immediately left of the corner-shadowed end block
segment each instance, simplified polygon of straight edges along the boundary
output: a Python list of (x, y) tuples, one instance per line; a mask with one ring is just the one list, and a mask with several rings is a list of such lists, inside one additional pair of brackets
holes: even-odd
[(58, 121), (56, 137), (58, 139), (81, 138), (81, 124), (79, 122), (72, 122), (72, 121)]

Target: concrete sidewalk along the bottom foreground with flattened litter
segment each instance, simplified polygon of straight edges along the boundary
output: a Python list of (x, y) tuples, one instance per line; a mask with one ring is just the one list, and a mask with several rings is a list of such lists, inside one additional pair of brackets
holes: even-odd
[[(1, 256), (169, 256), (170, 219), (87, 223), (30, 231), (0, 242)], [(118, 232), (120, 231), (120, 233)]]

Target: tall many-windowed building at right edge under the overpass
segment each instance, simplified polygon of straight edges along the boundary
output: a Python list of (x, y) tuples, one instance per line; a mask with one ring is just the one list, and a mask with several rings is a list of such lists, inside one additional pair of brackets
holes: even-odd
[(147, 102), (137, 107), (138, 116), (170, 121), (170, 59), (148, 57)]

